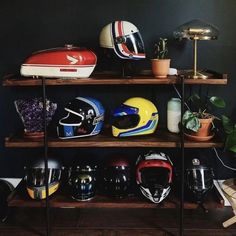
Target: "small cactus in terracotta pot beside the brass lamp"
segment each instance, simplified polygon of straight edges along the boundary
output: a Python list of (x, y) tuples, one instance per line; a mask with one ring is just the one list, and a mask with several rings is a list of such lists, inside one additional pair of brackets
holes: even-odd
[(170, 59), (167, 59), (167, 39), (160, 38), (154, 45), (155, 58), (151, 59), (152, 72), (157, 78), (167, 77), (170, 69)]

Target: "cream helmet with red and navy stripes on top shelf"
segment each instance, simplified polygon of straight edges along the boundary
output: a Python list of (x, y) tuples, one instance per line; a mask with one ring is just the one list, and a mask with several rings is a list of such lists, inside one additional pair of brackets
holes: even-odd
[(113, 49), (121, 59), (145, 58), (144, 43), (138, 28), (128, 21), (114, 21), (100, 32), (100, 46)]

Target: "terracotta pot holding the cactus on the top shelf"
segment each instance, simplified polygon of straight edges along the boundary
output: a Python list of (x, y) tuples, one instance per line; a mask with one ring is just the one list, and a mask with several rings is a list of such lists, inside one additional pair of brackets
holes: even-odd
[(152, 59), (152, 73), (157, 78), (167, 77), (170, 69), (170, 59)]

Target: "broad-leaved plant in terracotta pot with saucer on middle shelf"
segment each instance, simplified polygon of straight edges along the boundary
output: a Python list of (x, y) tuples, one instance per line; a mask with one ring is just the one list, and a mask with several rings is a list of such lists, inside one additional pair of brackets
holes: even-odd
[(188, 101), (192, 102), (193, 111), (186, 110), (183, 115), (182, 125), (185, 135), (194, 141), (210, 140), (214, 136), (213, 128), (215, 126), (213, 121), (215, 119), (220, 120), (220, 118), (210, 113), (211, 105), (224, 108), (224, 100), (216, 96), (202, 99), (199, 95), (194, 94), (189, 97)]

